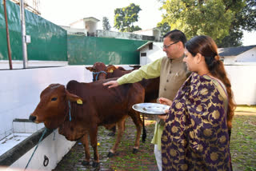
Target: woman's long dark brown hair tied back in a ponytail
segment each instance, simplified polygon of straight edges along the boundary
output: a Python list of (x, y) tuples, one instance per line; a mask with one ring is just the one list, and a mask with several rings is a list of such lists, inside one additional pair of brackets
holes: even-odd
[(228, 109), (227, 109), (227, 125), (228, 128), (232, 127), (232, 118), (234, 117), (234, 98), (231, 90), (231, 84), (229, 78), (226, 76), (226, 70), (220, 57), (218, 56), (218, 47), (214, 40), (209, 36), (196, 36), (191, 38), (190, 41), (186, 42), (186, 50), (190, 52), (193, 56), (196, 54), (202, 54), (206, 61), (206, 66), (210, 71), (210, 74), (215, 78), (221, 80), (226, 86), (226, 92), (228, 95)]

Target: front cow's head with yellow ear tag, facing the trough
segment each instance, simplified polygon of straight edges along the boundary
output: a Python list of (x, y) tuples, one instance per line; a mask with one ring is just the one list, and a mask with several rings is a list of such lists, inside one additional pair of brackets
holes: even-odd
[(82, 103), (82, 98), (70, 93), (64, 85), (51, 84), (40, 94), (40, 102), (30, 114), (30, 121), (44, 122), (46, 128), (56, 129), (61, 125), (69, 112), (69, 101)]

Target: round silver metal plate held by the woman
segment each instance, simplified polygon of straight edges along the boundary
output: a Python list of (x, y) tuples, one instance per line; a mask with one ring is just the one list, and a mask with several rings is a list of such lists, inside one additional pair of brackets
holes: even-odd
[(166, 114), (165, 110), (170, 109), (169, 105), (162, 105), (159, 103), (138, 103), (133, 105), (133, 109), (146, 114)]

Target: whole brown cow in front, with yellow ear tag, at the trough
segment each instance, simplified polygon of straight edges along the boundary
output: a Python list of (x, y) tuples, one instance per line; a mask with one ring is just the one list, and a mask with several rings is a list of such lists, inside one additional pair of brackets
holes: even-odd
[(144, 101), (144, 89), (140, 84), (127, 84), (115, 89), (102, 85), (103, 82), (115, 79), (90, 83), (70, 81), (66, 88), (60, 84), (49, 85), (42, 91), (40, 102), (34, 113), (31, 113), (30, 120), (36, 123), (44, 122), (48, 129), (58, 128), (58, 133), (64, 135), (67, 140), (77, 141), (81, 138), (86, 153), (82, 165), (90, 164), (89, 135), (90, 145), (94, 149), (93, 166), (96, 167), (99, 165), (98, 126), (110, 127), (118, 123), (118, 137), (110, 149), (110, 154), (116, 153), (124, 131), (124, 121), (130, 116), (137, 128), (135, 153), (139, 146), (142, 120), (131, 106)]

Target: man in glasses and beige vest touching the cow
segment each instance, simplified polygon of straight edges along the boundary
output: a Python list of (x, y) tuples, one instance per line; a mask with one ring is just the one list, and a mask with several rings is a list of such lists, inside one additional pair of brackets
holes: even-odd
[[(186, 36), (180, 30), (172, 30), (163, 38), (163, 51), (166, 52), (166, 57), (142, 66), (139, 70), (134, 70), (132, 73), (118, 78), (117, 81), (106, 82), (103, 85), (109, 85), (111, 88), (126, 83), (139, 82), (142, 78), (150, 79), (160, 76), (158, 97), (173, 100), (189, 74), (185, 63), (182, 62)], [(161, 137), (163, 128), (164, 122), (157, 121), (154, 137), (151, 141), (154, 144), (154, 155), (160, 171), (162, 171)]]

